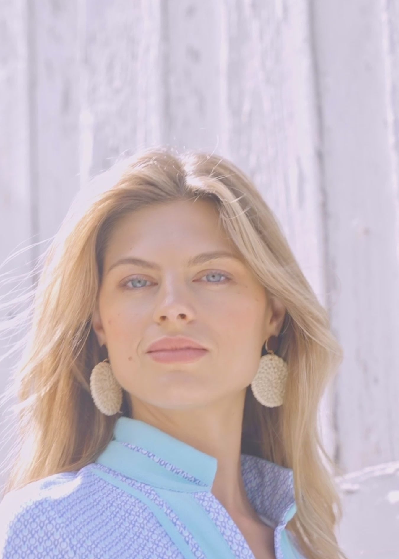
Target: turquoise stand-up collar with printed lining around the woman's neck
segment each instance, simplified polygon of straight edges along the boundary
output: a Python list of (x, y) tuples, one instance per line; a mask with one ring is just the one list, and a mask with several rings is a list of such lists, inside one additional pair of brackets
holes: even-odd
[[(153, 487), (211, 491), (217, 459), (137, 419), (120, 417), (113, 439), (96, 463)], [(258, 514), (286, 524), (296, 513), (293, 472), (263, 458), (241, 454), (244, 486)]]

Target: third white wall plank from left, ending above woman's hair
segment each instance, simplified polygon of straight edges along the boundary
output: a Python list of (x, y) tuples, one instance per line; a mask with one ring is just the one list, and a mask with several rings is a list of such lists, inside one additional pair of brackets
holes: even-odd
[(161, 6), (160, 0), (87, 0), (82, 110), (92, 144), (90, 175), (122, 153), (163, 141)]

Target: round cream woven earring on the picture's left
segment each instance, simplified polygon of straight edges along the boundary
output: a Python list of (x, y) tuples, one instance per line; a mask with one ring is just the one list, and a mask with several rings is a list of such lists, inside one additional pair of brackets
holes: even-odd
[(108, 357), (93, 367), (90, 392), (96, 408), (103, 414), (121, 413), (122, 387), (112, 372)]

